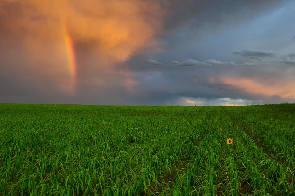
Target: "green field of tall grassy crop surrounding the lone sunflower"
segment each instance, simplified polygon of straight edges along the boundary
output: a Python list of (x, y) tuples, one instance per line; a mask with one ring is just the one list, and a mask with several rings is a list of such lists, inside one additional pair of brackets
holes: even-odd
[(0, 138), (0, 195), (295, 195), (295, 104), (0, 104)]

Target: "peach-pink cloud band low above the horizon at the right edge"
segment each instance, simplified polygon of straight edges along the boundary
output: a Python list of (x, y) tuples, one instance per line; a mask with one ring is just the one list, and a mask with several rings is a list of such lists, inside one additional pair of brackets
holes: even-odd
[(277, 80), (275, 83), (262, 83), (252, 78), (220, 77), (210, 78), (211, 84), (227, 84), (252, 95), (279, 96), (282, 99), (295, 99), (295, 81)]

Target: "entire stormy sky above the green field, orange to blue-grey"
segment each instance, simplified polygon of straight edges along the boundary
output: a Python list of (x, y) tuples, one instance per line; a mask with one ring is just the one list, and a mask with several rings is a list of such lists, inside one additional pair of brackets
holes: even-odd
[(0, 103), (295, 102), (293, 0), (1, 0)]

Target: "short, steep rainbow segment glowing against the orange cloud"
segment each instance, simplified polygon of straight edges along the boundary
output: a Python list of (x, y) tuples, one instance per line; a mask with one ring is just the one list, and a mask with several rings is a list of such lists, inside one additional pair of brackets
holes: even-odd
[(65, 47), (66, 47), (66, 53), (67, 53), (67, 61), (68, 61), (68, 67), (70, 70), (70, 75), (73, 80), (73, 86), (75, 88), (75, 82), (76, 82), (76, 63), (75, 63), (75, 53), (74, 53), (74, 48), (73, 48), (73, 42), (71, 37), (69, 36), (65, 26), (63, 26), (63, 37), (65, 40)]

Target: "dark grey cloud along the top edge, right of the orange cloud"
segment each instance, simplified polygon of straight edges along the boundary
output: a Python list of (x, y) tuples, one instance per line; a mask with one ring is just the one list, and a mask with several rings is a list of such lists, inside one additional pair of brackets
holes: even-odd
[(193, 29), (199, 29), (200, 26), (205, 25), (214, 27), (225, 23), (237, 24), (242, 20), (251, 19), (263, 11), (283, 5), (286, 0), (227, 0), (226, 2), (170, 0), (166, 2), (169, 12), (165, 17), (164, 27), (169, 30), (187, 24), (190, 24)]

